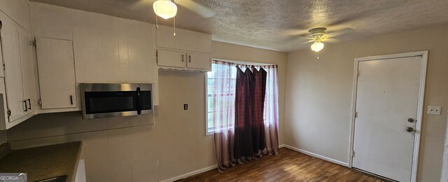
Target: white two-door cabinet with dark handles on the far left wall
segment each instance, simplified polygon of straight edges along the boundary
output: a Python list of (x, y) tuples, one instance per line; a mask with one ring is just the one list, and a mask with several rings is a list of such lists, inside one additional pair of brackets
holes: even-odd
[(6, 129), (36, 115), (36, 77), (30, 34), (0, 12)]

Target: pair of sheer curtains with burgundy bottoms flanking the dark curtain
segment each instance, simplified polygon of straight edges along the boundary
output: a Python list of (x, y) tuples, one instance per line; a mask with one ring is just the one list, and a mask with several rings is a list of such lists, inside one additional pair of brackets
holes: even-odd
[[(237, 68), (245, 68), (249, 65), (234, 64), (230, 62), (213, 61), (212, 71), (208, 73), (209, 91), (209, 120), (213, 120), (214, 144), (218, 170), (223, 172), (226, 167), (237, 164), (233, 157), (233, 140), (235, 125), (235, 80)], [(252, 66), (252, 65), (250, 65)], [(279, 151), (278, 141), (278, 78), (277, 66), (257, 66), (255, 69), (263, 68), (267, 71), (266, 96), (264, 107), (265, 126), (265, 154), (276, 155)], [(210, 87), (213, 85), (212, 87)]]

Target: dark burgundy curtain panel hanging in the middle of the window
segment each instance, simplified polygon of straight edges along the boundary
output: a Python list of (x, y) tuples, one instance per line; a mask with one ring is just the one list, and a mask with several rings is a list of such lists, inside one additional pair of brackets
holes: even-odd
[(235, 90), (234, 158), (251, 158), (261, 155), (266, 148), (263, 111), (266, 94), (264, 69), (254, 67), (241, 71), (237, 67)]

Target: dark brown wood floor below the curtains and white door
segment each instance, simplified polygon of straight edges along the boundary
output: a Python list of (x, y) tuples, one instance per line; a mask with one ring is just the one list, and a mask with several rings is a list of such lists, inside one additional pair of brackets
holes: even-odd
[(353, 169), (309, 155), (280, 148), (279, 155), (266, 155), (220, 173), (213, 169), (179, 181), (381, 181)]

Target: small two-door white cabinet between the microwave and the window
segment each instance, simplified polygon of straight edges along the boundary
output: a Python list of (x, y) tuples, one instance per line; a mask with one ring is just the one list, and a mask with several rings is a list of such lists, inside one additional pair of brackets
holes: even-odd
[(157, 50), (158, 66), (162, 69), (186, 71), (210, 71), (210, 54), (183, 52), (181, 50)]

